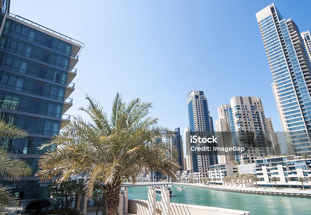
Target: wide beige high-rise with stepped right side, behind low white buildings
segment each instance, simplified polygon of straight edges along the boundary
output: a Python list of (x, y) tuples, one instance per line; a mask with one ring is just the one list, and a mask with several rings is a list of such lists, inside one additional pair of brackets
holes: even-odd
[[(279, 152), (279, 143), (271, 118), (266, 118), (261, 98), (255, 96), (234, 96), (230, 99), (230, 105), (225, 107), (231, 132), (232, 146), (245, 147), (243, 153), (234, 152), (234, 159), (238, 163), (250, 162), (254, 159), (273, 154), (276, 148)], [(271, 125), (270, 125), (271, 123)]]

